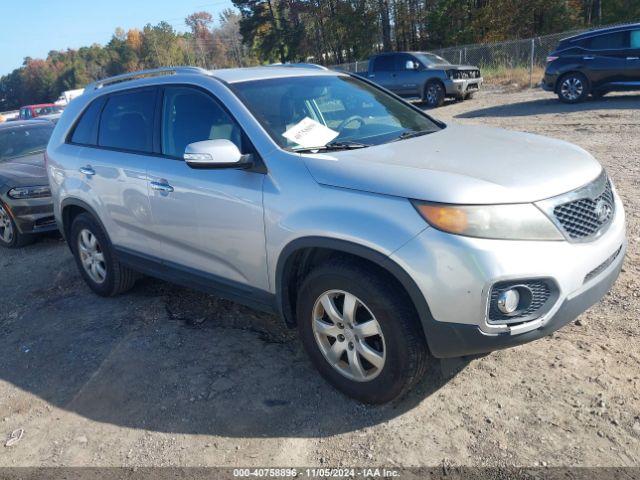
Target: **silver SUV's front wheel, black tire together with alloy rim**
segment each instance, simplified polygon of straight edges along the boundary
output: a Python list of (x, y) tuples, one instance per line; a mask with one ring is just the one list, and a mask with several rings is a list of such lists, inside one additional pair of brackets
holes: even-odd
[[(352, 297), (350, 304), (357, 305), (351, 317), (355, 321), (343, 315), (347, 295)], [(338, 321), (330, 320), (325, 297), (335, 307)], [(404, 395), (425, 372), (429, 354), (411, 301), (374, 268), (345, 260), (317, 267), (302, 282), (296, 313), (300, 338), (312, 363), (331, 385), (350, 397), (386, 403)], [(371, 320), (377, 322), (378, 330), (368, 328), (372, 324), (366, 322)], [(333, 351), (336, 346), (335, 351), (341, 353)], [(371, 355), (372, 350), (377, 356)], [(367, 361), (374, 358), (379, 366)], [(353, 374), (358, 370), (364, 375)]]

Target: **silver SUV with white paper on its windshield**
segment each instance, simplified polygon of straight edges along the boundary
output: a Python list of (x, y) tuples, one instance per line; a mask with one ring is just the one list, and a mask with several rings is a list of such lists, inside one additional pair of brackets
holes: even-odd
[(445, 125), (317, 68), (161, 69), (85, 92), (47, 170), (91, 289), (147, 274), (278, 313), (362, 401), (402, 395), (431, 357), (549, 335), (620, 272), (620, 199), (568, 143)]

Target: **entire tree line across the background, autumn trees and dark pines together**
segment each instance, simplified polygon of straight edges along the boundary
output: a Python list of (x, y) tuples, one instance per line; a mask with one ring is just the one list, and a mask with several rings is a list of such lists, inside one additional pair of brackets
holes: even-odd
[(64, 90), (166, 65), (204, 68), (361, 60), (389, 50), (528, 38), (640, 19), (640, 0), (232, 0), (208, 12), (116, 29), (109, 43), (25, 58), (0, 78), (0, 111), (51, 101)]

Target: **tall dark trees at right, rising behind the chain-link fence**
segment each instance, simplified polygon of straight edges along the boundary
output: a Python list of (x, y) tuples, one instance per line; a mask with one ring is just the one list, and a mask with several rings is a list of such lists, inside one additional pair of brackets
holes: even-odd
[(640, 19), (640, 0), (233, 0), (261, 60), (338, 64), (389, 50), (529, 38)]

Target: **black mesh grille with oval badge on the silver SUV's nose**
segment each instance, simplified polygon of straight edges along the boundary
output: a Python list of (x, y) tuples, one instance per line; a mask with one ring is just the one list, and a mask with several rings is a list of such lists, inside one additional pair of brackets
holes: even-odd
[(611, 182), (595, 198), (580, 198), (553, 209), (553, 214), (572, 239), (594, 236), (611, 222), (615, 210)]

